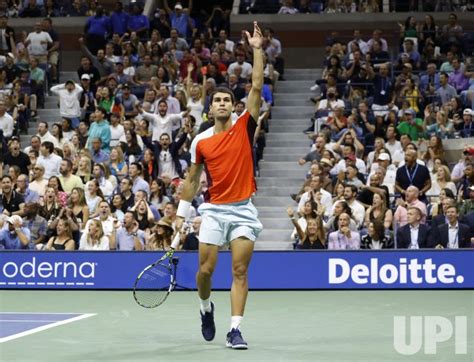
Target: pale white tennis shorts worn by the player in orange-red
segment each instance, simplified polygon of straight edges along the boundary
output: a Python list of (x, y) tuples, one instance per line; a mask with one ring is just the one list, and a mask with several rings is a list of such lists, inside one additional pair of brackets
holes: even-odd
[(222, 246), (238, 237), (255, 241), (263, 229), (258, 211), (250, 199), (232, 204), (201, 204), (199, 241)]

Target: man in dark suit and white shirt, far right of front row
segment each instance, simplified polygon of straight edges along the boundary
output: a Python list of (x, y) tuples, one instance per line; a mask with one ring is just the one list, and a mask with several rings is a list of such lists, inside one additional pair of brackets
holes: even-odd
[(433, 246), (436, 248), (470, 248), (471, 232), (468, 225), (459, 222), (458, 210), (455, 205), (446, 209), (447, 223), (433, 230)]

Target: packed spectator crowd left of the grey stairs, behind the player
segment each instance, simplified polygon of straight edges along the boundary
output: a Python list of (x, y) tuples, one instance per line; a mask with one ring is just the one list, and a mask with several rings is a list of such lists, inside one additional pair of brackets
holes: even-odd
[[(78, 39), (84, 56), (78, 59), (77, 79), (61, 83), (58, 72), (53, 74), (60, 44), (50, 18), (20, 39), (13, 30), (0, 32), (10, 44), (0, 68), (0, 248), (170, 247), (191, 142), (214, 125), (210, 95), (219, 86), (230, 88), (236, 100), (233, 117), (242, 114), (251, 86), (252, 50), (245, 36), (229, 39), (228, 18), (220, 6), (200, 21), (190, 15), (192, 1), (187, 7), (163, 3), (151, 21), (138, 4), (128, 13), (117, 2), (111, 14), (97, 6)], [(0, 28), (11, 29), (8, 18), (1, 19)], [(283, 73), (281, 44), (271, 29), (264, 33), (256, 173), (276, 69)], [(43, 107), (48, 92), (58, 102), (53, 122), (39, 118), (36, 108)], [(22, 144), (22, 135), (33, 127), (36, 134)], [(184, 250), (198, 248), (196, 209), (207, 200), (207, 191), (203, 174), (179, 236)]]

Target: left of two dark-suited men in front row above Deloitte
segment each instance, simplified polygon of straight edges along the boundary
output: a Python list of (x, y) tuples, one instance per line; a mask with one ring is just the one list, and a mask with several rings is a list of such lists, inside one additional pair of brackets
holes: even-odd
[(409, 207), (407, 224), (397, 230), (397, 247), (400, 249), (422, 249), (430, 247), (430, 228), (421, 223), (422, 211)]

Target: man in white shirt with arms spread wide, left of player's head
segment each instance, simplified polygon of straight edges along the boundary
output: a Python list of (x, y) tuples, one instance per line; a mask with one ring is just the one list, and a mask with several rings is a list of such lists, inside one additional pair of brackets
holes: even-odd
[(168, 104), (163, 99), (158, 103), (158, 114), (145, 112), (141, 107), (138, 110), (142, 117), (150, 122), (153, 132), (151, 140), (153, 142), (159, 142), (163, 133), (171, 136), (173, 129), (181, 126), (181, 120), (186, 115), (186, 112), (168, 114)]

